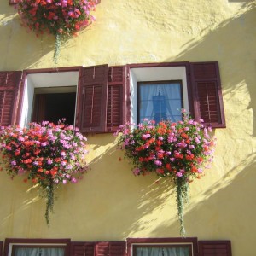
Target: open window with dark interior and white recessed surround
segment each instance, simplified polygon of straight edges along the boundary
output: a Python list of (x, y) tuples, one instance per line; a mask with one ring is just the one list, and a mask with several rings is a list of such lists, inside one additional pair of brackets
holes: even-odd
[(48, 120), (57, 123), (65, 118), (74, 125), (79, 69), (52, 72), (27, 71), (24, 81), (20, 125)]

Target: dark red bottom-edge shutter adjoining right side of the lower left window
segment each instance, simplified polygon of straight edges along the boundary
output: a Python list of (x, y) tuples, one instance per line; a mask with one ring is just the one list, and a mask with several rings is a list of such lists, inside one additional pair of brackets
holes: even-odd
[(94, 256), (94, 246), (93, 242), (81, 242), (72, 241), (70, 243), (70, 255), (71, 256)]

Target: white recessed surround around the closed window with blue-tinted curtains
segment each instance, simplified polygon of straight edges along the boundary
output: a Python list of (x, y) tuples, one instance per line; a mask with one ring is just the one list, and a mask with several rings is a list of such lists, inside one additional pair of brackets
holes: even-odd
[(182, 80), (183, 108), (189, 110), (188, 82), (185, 66), (178, 67), (131, 67), (131, 124), (137, 125), (137, 83), (154, 81)]

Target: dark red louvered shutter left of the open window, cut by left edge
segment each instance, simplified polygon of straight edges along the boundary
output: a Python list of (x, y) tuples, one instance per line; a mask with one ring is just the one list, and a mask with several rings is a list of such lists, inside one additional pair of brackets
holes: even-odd
[(0, 125), (14, 125), (22, 73), (0, 72)]

